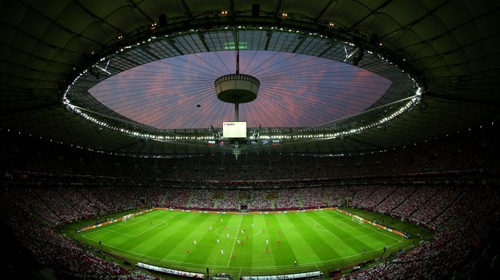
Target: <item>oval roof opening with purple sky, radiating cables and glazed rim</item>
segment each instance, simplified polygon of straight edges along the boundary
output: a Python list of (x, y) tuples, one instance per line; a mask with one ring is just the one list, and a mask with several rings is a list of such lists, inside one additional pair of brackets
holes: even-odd
[[(213, 115), (221, 111), (231, 112), (231, 109), (224, 110), (220, 102), (213, 102), (213, 81), (218, 76), (234, 73), (234, 51), (228, 51), (228, 46), (234, 46), (236, 37), (241, 45), (239, 48), (244, 47), (241, 69), (256, 75), (263, 82), (260, 89), (263, 94), (260, 94), (255, 105), (242, 108), (247, 110), (248, 119), (258, 119), (258, 122), (251, 122), (252, 127), (259, 124), (264, 127), (308, 127), (323, 123), (328, 126), (337, 119), (415, 94), (417, 86), (408, 73), (377, 53), (367, 51), (363, 60), (358, 62), (360, 68), (347, 64), (353, 60), (353, 57), (347, 58), (349, 54), (358, 56), (360, 53), (359, 46), (352, 43), (303, 30), (280, 30), (274, 26), (234, 28), (238, 30), (237, 33), (228, 31), (233, 27), (227, 26), (216, 30), (188, 30), (161, 37), (152, 36), (145, 41), (122, 46), (96, 64), (99, 67), (107, 65), (109, 74), (95, 66), (90, 67), (90, 71), (85, 71), (70, 87), (67, 98), (73, 105), (92, 112), (110, 114), (113, 118), (132, 122), (142, 118), (146, 121), (139, 123), (147, 125), (152, 122), (147, 120), (145, 114), (140, 115), (138, 112), (151, 112), (152, 107), (161, 104), (158, 113), (151, 115), (158, 119), (156, 123), (166, 128), (217, 127), (220, 121), (207, 125), (206, 120), (217, 119)], [(344, 61), (346, 63), (342, 63)], [(141, 86), (141, 83), (144, 85)], [(154, 94), (152, 98), (158, 102), (144, 107), (142, 104), (147, 101), (142, 98), (148, 94)], [(164, 95), (162, 102), (158, 97), (161, 94)], [(176, 97), (165, 97), (169, 94)], [(335, 100), (328, 99), (332, 95), (336, 95)], [(198, 100), (205, 100), (206, 105), (201, 109), (203, 113), (194, 106)], [(126, 110), (121, 110), (121, 114), (115, 108), (112, 108), (115, 112), (110, 112), (109, 107), (125, 107), (117, 102), (126, 101)], [(130, 104), (132, 101), (141, 106)], [(319, 102), (326, 107), (317, 107)], [(189, 106), (190, 103), (192, 106)], [(137, 117), (126, 117), (131, 115), (126, 114), (127, 111), (133, 111)], [(252, 112), (266, 114), (265, 111), (272, 111), (276, 121), (271, 118), (251, 118)], [(297, 116), (288, 116), (290, 112)], [(327, 112), (330, 112), (330, 116)], [(308, 114), (315, 116), (311, 118), (315, 121), (309, 121), (305, 117)], [(284, 116), (286, 121), (278, 121), (278, 116)], [(179, 121), (188, 118), (188, 122)], [(349, 121), (362, 119), (366, 119), (366, 116)], [(230, 120), (226, 114), (225, 121)], [(179, 123), (184, 127), (174, 126)], [(152, 126), (158, 128), (158, 125)]]

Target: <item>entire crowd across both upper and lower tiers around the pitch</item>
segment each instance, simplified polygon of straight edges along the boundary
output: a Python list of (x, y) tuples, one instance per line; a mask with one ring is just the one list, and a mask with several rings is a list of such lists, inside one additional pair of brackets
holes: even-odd
[[(365, 155), (240, 155), (238, 161), (222, 155), (172, 159), (120, 157), (1, 133), (6, 141), (0, 160), (0, 168), (6, 174), (3, 183), (6, 187), (0, 195), (1, 218), (39, 263), (75, 277), (131, 277), (131, 272), (57, 234), (53, 225), (147, 206), (238, 208), (238, 191), (224, 190), (215, 195), (215, 191), (192, 187), (208, 184), (208, 181), (305, 182), (301, 180), (326, 178), (325, 184), (330, 185), (317, 183), (319, 186), (315, 188), (302, 188), (288, 182), (276, 187), (262, 182), (249, 183), (254, 189), (245, 200), (249, 200), (250, 210), (347, 203), (352, 207), (415, 218), (437, 229), (437, 233), (417, 249), (345, 277), (352, 279), (451, 276), (467, 258), (480, 253), (478, 248), (499, 222), (499, 194), (495, 188), (486, 188), (487, 183), (456, 186), (452, 182), (447, 186), (447, 183), (419, 183), (418, 180), (418, 176), (425, 174), (447, 172), (458, 177), (470, 173), (487, 177), (498, 173), (500, 137), (494, 129)], [(397, 182), (408, 176), (417, 177), (415, 184), (411, 180)], [(362, 183), (363, 178), (380, 177), (397, 179), (391, 184)], [(93, 182), (93, 185), (76, 184), (81, 181)], [(147, 187), (142, 182), (147, 182)], [(178, 185), (165, 186), (164, 182)], [(134, 277), (149, 278), (134, 273)]]

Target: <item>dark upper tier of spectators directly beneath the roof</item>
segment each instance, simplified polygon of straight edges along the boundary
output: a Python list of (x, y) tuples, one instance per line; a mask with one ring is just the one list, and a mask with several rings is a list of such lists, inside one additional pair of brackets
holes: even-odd
[[(14, 177), (33, 173), (125, 177), (156, 180), (302, 180), (412, 174), (442, 170), (498, 171), (500, 141), (494, 127), (453, 134), (383, 152), (336, 157), (308, 155), (202, 155), (143, 158), (106, 155), (12, 132), (5, 141), (0, 168)], [(29, 176), (28, 176), (29, 177)]]

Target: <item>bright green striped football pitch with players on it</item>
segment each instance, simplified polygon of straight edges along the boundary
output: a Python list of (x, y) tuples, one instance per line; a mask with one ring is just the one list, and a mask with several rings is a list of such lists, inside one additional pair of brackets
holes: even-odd
[(335, 210), (267, 214), (155, 210), (74, 237), (133, 262), (203, 273), (209, 268), (210, 274), (225, 272), (233, 277), (327, 271), (375, 259), (386, 245), (388, 254), (411, 242)]

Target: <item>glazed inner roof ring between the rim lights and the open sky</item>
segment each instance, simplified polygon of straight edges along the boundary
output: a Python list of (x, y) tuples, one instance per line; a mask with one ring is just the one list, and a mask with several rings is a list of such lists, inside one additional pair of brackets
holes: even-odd
[[(238, 35), (235, 36), (235, 33)], [(160, 134), (165, 132), (165, 130), (151, 128), (149, 125), (138, 123), (133, 119), (128, 119), (126, 116), (110, 110), (110, 108), (88, 94), (88, 90), (98, 82), (108, 78), (104, 74), (106, 72), (116, 75), (141, 64), (172, 58), (185, 53), (195, 54), (206, 51), (228, 50), (231, 49), (231, 42), (234, 42), (231, 40), (235, 40), (235, 37), (244, 40), (244, 45), (240, 45), (249, 50), (258, 51), (262, 49), (267, 51), (301, 53), (346, 63), (356, 59), (356, 51), (360, 51), (358, 46), (350, 42), (341, 42), (340, 40), (328, 38), (319, 33), (310, 33), (308, 30), (283, 30), (283, 28), (276, 28), (275, 26), (267, 26), (265, 28), (262, 26), (240, 26), (239, 28), (217, 26), (213, 29), (186, 30), (185, 32), (162, 35), (160, 37), (151, 36), (147, 40), (120, 47), (114, 53), (101, 58), (99, 62), (92, 64), (91, 67), (78, 74), (67, 88), (64, 95), (64, 102), (69, 110), (81, 112), (81, 109), (83, 109), (86, 111), (85, 119), (89, 119), (107, 128), (124, 130), (124, 133), (128, 133), (127, 131), (131, 130), (138, 130), (140, 133), (135, 132), (133, 134), (135, 136), (137, 134), (144, 135), (144, 131), (147, 131), (149, 134)], [(356, 62), (358, 67), (367, 69), (392, 81), (391, 87), (371, 107), (367, 108), (368, 110), (390, 103), (397, 103), (399, 100), (414, 96), (417, 89), (421, 90), (415, 78), (404, 70), (399, 69), (397, 64), (390, 62), (387, 58), (373, 51), (365, 52), (363, 60)], [(108, 65), (108, 62), (111, 63)], [(100, 75), (96, 75), (95, 69), (103, 70)], [(399, 106), (398, 108), (391, 106), (388, 109), (392, 113), (397, 112), (400, 107), (403, 106)], [(387, 107), (384, 111), (387, 112)], [(110, 116), (110, 118), (106, 121), (97, 121), (97, 114), (101, 117)], [(374, 117), (380, 117), (379, 112), (370, 116), (372, 119)], [(110, 119), (113, 119), (113, 121), (110, 121)], [(366, 115), (357, 119), (355, 116), (349, 119), (348, 122), (367, 123), (366, 119)], [(120, 122), (119, 120), (121, 120), (121, 124), (116, 123), (117, 121)], [(113, 124), (110, 125), (109, 123)], [(333, 128), (333, 123), (335, 123), (335, 128), (339, 128), (339, 123), (336, 119), (326, 122), (323, 126)], [(342, 123), (346, 123), (346, 121), (342, 120)], [(119, 128), (119, 125), (122, 128)], [(369, 128), (368, 125), (366, 127)], [(153, 138), (156, 139), (156, 137)]]

